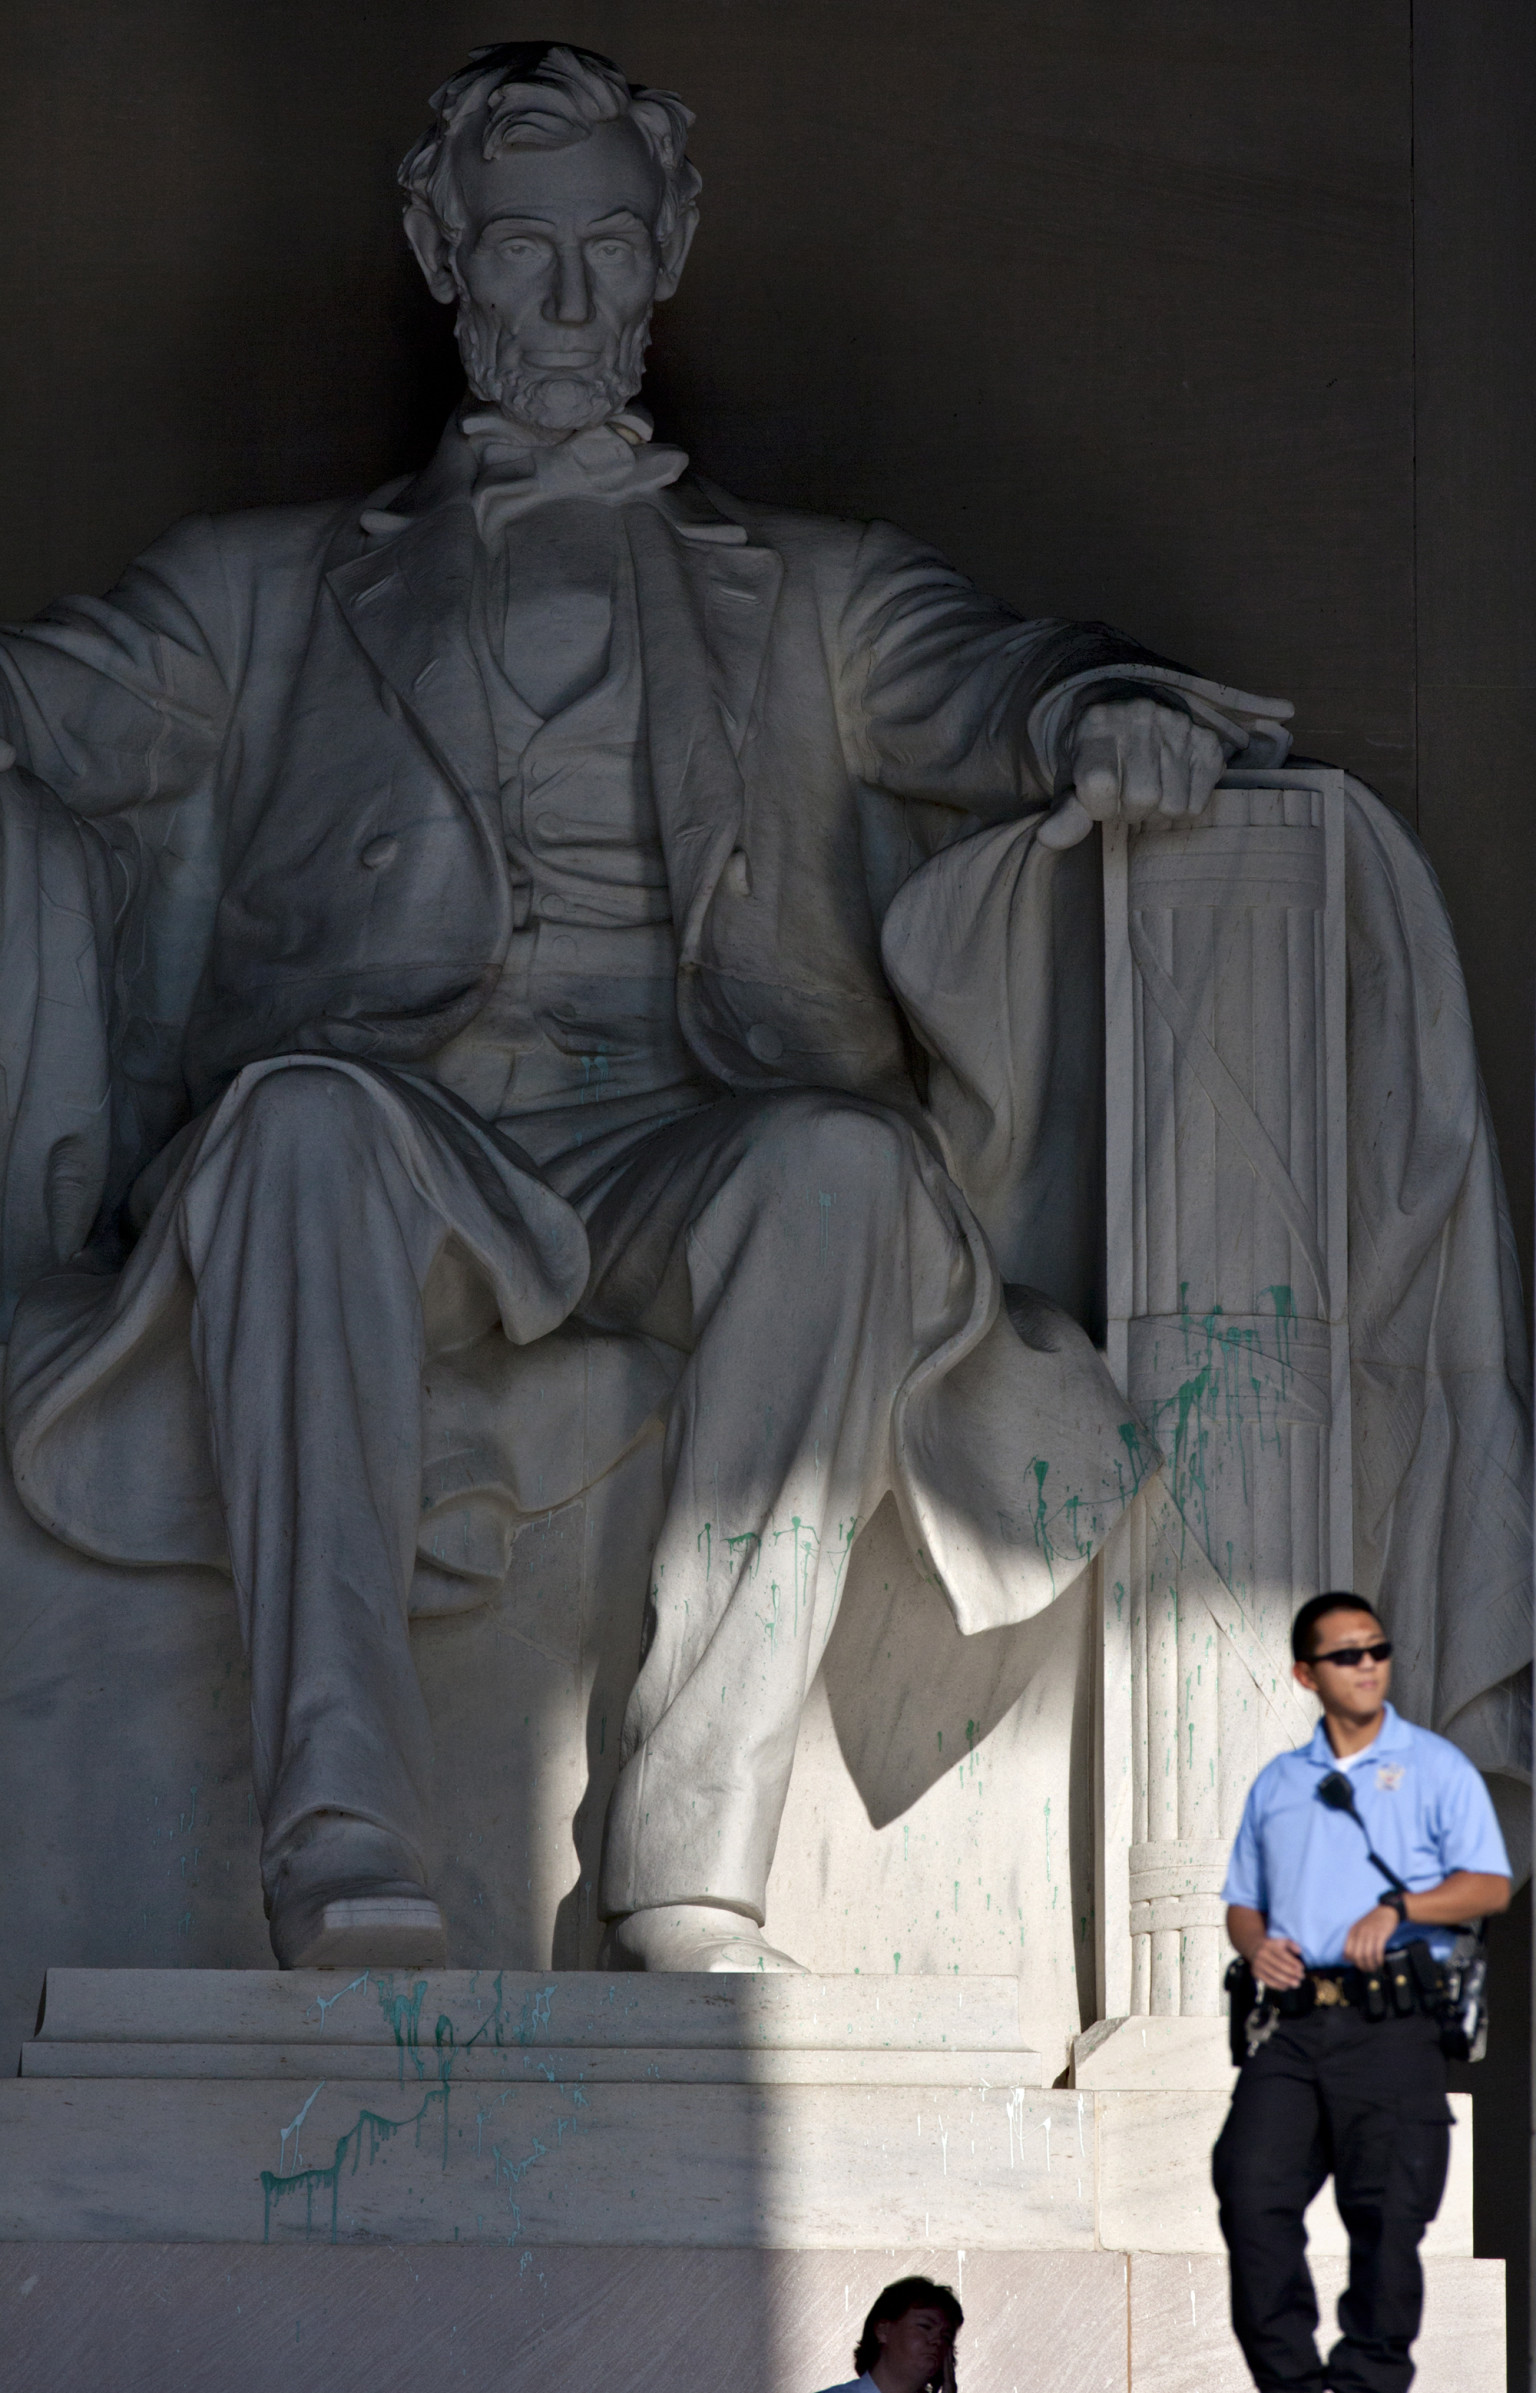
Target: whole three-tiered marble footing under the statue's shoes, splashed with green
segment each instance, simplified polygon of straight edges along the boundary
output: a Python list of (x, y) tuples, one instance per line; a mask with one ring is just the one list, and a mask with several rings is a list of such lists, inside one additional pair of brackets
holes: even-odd
[(2, 2237), (1093, 2249), (1017, 1979), (57, 1969)]

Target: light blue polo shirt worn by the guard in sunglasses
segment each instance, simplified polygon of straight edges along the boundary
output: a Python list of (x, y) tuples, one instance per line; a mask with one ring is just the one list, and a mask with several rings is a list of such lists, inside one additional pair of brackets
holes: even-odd
[[(1318, 1800), (1328, 1771), (1345, 1771), (1359, 1833), (1347, 1812)], [(1345, 1936), (1373, 1910), (1385, 1879), (1366, 1859), (1366, 1840), (1397, 1871), (1409, 1893), (1438, 1886), (1452, 1869), (1510, 1874), (1510, 1855), (1481, 1776), (1455, 1744), (1414, 1728), (1388, 1704), (1373, 1744), (1340, 1761), (1318, 1721), (1294, 1754), (1278, 1754), (1249, 1788), (1227, 1864), (1225, 1902), (1263, 1912), (1270, 1936), (1294, 1936), (1311, 1969), (1345, 1960)], [(1390, 1943), (1426, 1936), (1450, 1953), (1455, 1929), (1404, 1919)]]

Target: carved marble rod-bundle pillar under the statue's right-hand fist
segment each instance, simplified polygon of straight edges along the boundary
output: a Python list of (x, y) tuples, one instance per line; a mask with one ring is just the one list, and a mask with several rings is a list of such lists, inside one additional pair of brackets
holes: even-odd
[(1342, 775), (1105, 833), (1110, 1366), (1163, 1448), (1105, 1560), (1105, 2008), (1213, 2013), (1225, 1855), (1349, 1579)]

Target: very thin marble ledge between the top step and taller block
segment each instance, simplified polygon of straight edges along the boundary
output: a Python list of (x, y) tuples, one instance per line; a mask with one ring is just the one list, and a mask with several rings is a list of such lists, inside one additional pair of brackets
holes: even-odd
[(400, 2046), (378, 2044), (86, 2044), (22, 2046), (22, 2077), (280, 2077), (400, 2084), (739, 2084), (739, 2087), (1038, 2087), (1041, 2056), (1026, 2051), (799, 2051), (651, 2044)]

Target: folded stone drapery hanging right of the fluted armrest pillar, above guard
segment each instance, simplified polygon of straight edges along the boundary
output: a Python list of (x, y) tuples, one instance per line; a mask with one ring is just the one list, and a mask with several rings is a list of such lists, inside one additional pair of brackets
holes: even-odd
[[(1531, 1371), (1467, 986), (1431, 864), (1349, 785), (1354, 1584), (1392, 1694), (1481, 1771), (1531, 1771)], [(1495, 1788), (1498, 1792), (1498, 1788)], [(1529, 1802), (1500, 1802), (1524, 1876)]]

